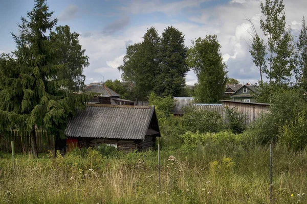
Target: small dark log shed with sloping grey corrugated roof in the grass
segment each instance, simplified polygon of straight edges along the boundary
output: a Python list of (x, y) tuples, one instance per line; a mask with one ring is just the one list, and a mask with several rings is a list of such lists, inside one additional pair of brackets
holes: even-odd
[[(155, 107), (91, 104), (69, 120), (66, 148), (107, 144), (119, 150), (147, 150), (160, 130)], [(63, 144), (62, 144), (63, 145)]]

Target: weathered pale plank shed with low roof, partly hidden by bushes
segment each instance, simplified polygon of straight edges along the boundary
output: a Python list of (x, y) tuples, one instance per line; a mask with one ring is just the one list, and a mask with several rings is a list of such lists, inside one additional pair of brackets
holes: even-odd
[(223, 103), (223, 107), (228, 107), (230, 109), (236, 107), (238, 112), (246, 114), (246, 119), (245, 119), (246, 124), (260, 117), (261, 113), (268, 112), (270, 107), (270, 104), (262, 104), (262, 103), (249, 103), (249, 102), (232, 101), (232, 100), (221, 100), (221, 101)]

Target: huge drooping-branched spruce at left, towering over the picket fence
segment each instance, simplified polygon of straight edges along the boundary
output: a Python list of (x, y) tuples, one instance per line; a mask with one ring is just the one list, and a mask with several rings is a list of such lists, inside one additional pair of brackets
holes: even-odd
[(70, 86), (72, 77), (62, 74), (70, 66), (58, 59), (58, 50), (47, 36), (57, 22), (52, 14), (45, 0), (35, 0), (28, 19), (21, 18), (19, 35), (13, 34), (14, 58), (3, 55), (0, 63), (1, 129), (28, 131), (34, 157), (38, 157), (35, 130), (64, 136), (68, 118), (84, 108), (87, 99), (75, 94)]

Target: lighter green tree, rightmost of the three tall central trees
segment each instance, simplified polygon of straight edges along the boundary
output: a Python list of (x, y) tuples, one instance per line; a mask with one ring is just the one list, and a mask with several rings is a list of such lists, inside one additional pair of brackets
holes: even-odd
[(187, 61), (198, 78), (195, 98), (199, 103), (218, 103), (227, 82), (227, 66), (220, 52), (221, 45), (216, 35), (207, 35), (192, 43)]

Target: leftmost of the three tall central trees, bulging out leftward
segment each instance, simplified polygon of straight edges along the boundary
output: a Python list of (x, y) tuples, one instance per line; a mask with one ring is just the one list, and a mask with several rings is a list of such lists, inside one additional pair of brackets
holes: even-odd
[(145, 99), (156, 86), (159, 74), (160, 37), (154, 27), (147, 29), (141, 43), (127, 46), (124, 64), (118, 69), (123, 71), (122, 79), (135, 83), (135, 91), (140, 99)]

